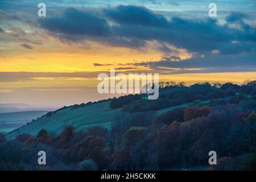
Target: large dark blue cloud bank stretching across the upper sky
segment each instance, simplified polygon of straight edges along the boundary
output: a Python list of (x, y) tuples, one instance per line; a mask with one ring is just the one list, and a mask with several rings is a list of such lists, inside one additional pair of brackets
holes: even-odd
[[(110, 46), (139, 48), (147, 41), (156, 40), (162, 45), (172, 45), (189, 52), (212, 52), (220, 54), (244, 54), (255, 51), (255, 27), (246, 24), (248, 16), (232, 12), (226, 23), (216, 19), (170, 20), (146, 7), (123, 6), (100, 11), (66, 9), (61, 17), (40, 19), (43, 28), (61, 39), (71, 41), (94, 40)], [(114, 23), (108, 23), (106, 16)], [(237, 24), (238, 28), (229, 26)], [(240, 28), (239, 28), (240, 27)], [(168, 46), (156, 47), (164, 53), (171, 53)]]

